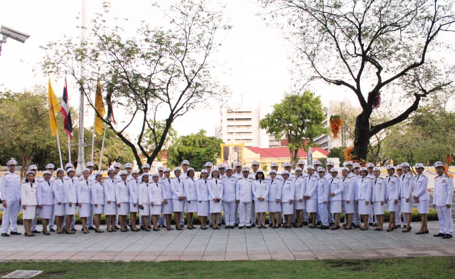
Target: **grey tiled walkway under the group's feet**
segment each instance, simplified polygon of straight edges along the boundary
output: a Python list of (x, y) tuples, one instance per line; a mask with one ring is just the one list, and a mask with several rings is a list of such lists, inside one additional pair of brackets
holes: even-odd
[(455, 255), (455, 239), (433, 237), (439, 231), (437, 222), (429, 222), (427, 235), (415, 235), (420, 223), (413, 226), (413, 232), (407, 234), (400, 230), (378, 232), (372, 227), (368, 231), (221, 227), (22, 235), (0, 238), (0, 260), (314, 260)]

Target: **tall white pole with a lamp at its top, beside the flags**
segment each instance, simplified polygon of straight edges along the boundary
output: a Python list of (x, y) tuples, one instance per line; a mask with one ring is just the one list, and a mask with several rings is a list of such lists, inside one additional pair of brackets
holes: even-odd
[[(111, 8), (110, 2), (104, 2), (103, 8), (106, 13)], [(87, 0), (82, 0), (82, 14), (81, 14), (81, 27), (80, 27), (80, 45), (83, 46), (85, 42), (85, 29), (87, 25)], [(82, 175), (82, 170), (85, 168), (84, 160), (84, 57), (80, 62), (80, 96), (79, 96), (79, 143), (77, 153), (77, 167), (76, 174)]]

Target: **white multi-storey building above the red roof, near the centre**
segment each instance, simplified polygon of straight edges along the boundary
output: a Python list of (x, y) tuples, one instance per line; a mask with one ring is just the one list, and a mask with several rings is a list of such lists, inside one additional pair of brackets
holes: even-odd
[(221, 106), (220, 124), (215, 127), (215, 136), (224, 143), (243, 143), (245, 146), (269, 148), (279, 147), (275, 136), (259, 128), (259, 120), (273, 108), (266, 102), (259, 102), (258, 107), (245, 107), (241, 104)]

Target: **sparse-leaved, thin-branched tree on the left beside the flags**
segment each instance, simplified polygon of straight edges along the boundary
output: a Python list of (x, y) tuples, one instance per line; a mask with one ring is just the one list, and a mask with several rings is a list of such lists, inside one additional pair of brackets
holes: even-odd
[[(169, 26), (152, 28), (142, 22), (133, 37), (127, 37), (120, 26), (108, 27), (100, 15), (84, 44), (70, 38), (41, 46), (45, 51), (42, 71), (68, 72), (90, 107), (94, 107), (97, 80), (105, 84), (106, 103), (127, 118), (118, 127), (109, 119), (103, 121), (131, 149), (139, 165), (141, 155), (149, 164), (157, 158), (176, 118), (226, 94), (211, 75), (210, 61), (220, 45), (218, 31), (230, 28), (222, 25), (221, 12), (210, 10), (205, 1), (185, 1), (163, 13)], [(80, 79), (82, 59), (86, 74)], [(141, 128), (134, 131), (139, 136), (133, 141), (127, 129), (135, 121)]]

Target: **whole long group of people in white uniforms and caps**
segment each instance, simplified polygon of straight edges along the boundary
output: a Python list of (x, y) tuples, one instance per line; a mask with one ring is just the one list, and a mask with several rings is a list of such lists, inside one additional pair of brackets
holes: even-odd
[[(42, 177), (36, 176), (37, 167), (31, 165), (21, 180), (15, 173), (17, 162), (8, 162), (8, 172), (0, 180), (0, 193), (4, 207), (2, 236), (21, 235), (17, 230), (17, 218), (23, 210), (25, 236), (40, 232), (36, 217), (42, 224), (42, 234), (74, 234), (76, 211), (82, 223), (83, 234), (90, 230), (101, 233), (101, 214), (106, 218), (108, 232), (172, 230), (196, 228), (194, 213), (200, 219), (200, 228), (207, 229), (207, 221), (213, 229), (219, 229), (224, 221), (225, 229), (284, 228), (308, 226), (308, 228), (340, 229), (340, 213), (344, 213), (344, 229), (384, 229), (385, 209), (390, 212), (386, 231), (412, 230), (412, 207), (417, 204), (421, 227), (416, 234), (428, 234), (427, 213), (430, 196), (427, 191), (428, 177), (423, 164), (416, 164), (416, 176), (411, 166), (401, 163), (387, 165), (387, 176), (381, 177), (381, 169), (368, 163), (365, 167), (351, 161), (345, 162), (339, 171), (333, 162), (327, 162), (327, 170), (320, 161), (314, 161), (305, 169), (299, 161), (292, 172), (291, 163), (271, 163), (270, 171), (259, 169), (253, 161), (251, 169), (237, 162), (235, 168), (223, 164), (214, 167), (205, 164), (199, 177), (190, 162), (184, 160), (181, 167), (159, 167), (158, 173), (149, 174), (150, 165), (143, 164), (141, 171), (133, 170), (130, 163), (115, 163), (107, 171), (107, 177), (94, 172), (92, 162), (86, 164), (80, 177), (75, 176), (72, 164), (65, 169), (48, 164)], [(437, 210), (440, 230), (435, 237), (444, 239), (453, 235), (450, 206), (453, 180), (444, 174), (445, 165), (436, 162), (437, 176), (434, 181), (433, 207)], [(306, 171), (305, 171), (306, 170)], [(56, 176), (54, 176), (54, 172)], [(221, 213), (223, 213), (221, 215)], [(401, 220), (403, 214), (403, 221)], [(139, 228), (136, 216), (139, 215)], [(129, 216), (129, 221), (128, 221)], [(223, 216), (223, 220), (221, 219)], [(363, 223), (361, 225), (361, 222)], [(54, 228), (55, 226), (55, 228)], [(127, 227), (130, 227), (128, 229)], [(8, 230), (11, 227), (11, 232)]]

